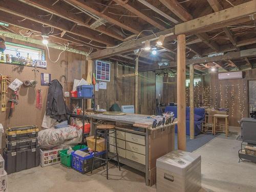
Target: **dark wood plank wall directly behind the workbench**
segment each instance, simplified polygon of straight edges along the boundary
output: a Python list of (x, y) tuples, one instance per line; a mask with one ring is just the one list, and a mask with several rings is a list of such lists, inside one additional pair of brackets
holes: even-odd
[[(111, 80), (106, 82), (106, 90), (95, 92), (96, 104), (100, 108), (109, 110), (115, 102), (121, 105), (135, 105), (135, 76), (119, 77), (116, 74), (116, 63), (111, 63)], [(129, 66), (118, 65), (119, 76), (135, 73), (135, 69)], [(98, 82), (98, 80), (97, 80)], [(156, 79), (155, 73), (139, 73), (138, 82), (139, 113), (152, 115), (156, 110)]]

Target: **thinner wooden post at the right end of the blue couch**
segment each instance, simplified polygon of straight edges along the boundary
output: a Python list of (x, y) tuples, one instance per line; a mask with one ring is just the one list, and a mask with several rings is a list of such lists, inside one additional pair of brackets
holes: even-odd
[(189, 106), (190, 106), (190, 121), (189, 121), (189, 132), (190, 132), (190, 139), (195, 138), (195, 130), (194, 130), (194, 65), (189, 65)]

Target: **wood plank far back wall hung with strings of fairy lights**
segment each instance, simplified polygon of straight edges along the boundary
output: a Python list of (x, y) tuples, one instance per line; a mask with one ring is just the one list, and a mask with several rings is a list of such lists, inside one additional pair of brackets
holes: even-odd
[[(211, 73), (202, 76), (202, 86), (211, 87), (209, 94), (209, 102), (211, 105), (217, 103), (217, 108), (229, 109), (229, 125), (240, 126), (238, 120), (249, 116), (249, 103), (248, 103), (248, 80), (256, 79), (256, 70), (246, 70), (245, 78), (232, 79), (232, 80), (219, 80), (218, 73)], [(176, 82), (176, 77), (165, 77), (163, 81)], [(227, 93), (227, 94), (226, 94)], [(194, 93), (195, 98), (198, 94)], [(245, 95), (244, 95), (245, 94)], [(239, 96), (240, 95), (240, 96)], [(189, 97), (189, 96), (188, 96)], [(177, 83), (163, 84), (163, 102), (176, 102), (177, 101)], [(188, 104), (187, 104), (188, 105)], [(241, 111), (244, 113), (241, 114)]]

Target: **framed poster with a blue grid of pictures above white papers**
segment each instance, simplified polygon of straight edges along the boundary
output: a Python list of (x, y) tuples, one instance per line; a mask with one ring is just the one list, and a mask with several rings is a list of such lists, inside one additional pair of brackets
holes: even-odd
[(110, 62), (96, 60), (96, 80), (110, 81)]

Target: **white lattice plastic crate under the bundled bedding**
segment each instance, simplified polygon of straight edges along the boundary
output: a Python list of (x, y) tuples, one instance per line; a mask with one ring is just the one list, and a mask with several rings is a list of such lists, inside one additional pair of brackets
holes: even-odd
[(41, 150), (40, 149), (40, 165), (41, 167), (53, 165), (60, 163), (59, 151), (62, 148), (57, 148), (56, 150)]

